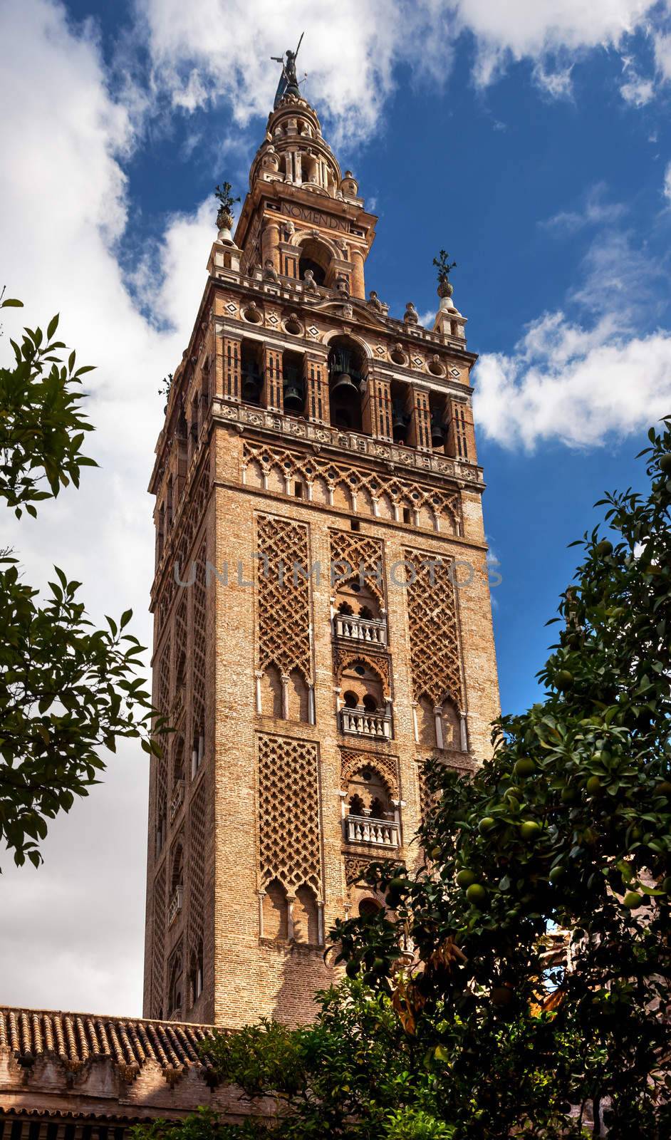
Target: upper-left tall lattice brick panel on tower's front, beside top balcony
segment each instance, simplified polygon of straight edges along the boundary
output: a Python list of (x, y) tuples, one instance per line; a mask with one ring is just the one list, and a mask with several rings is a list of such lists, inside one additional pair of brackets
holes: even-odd
[(300, 669), (312, 675), (310, 652), (310, 584), (294, 565), (310, 569), (308, 528), (291, 519), (261, 515), (257, 547), (259, 667), (273, 663), (280, 673)]

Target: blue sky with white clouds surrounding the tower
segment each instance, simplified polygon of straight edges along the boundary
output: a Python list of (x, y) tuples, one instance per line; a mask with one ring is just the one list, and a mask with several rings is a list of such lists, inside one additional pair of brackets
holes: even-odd
[[(1, 282), (28, 323), (60, 309), (68, 343), (98, 365), (101, 463), (8, 540), (31, 580), (58, 562), (95, 616), (132, 604), (150, 640), (156, 389), (204, 285), (213, 186), (244, 195), (277, 82), (269, 56), (303, 30), (304, 92), (379, 214), (367, 287), (428, 321), (432, 259), (447, 247), (458, 262), (455, 300), (481, 355), (501, 701), (519, 709), (573, 573), (567, 543), (605, 488), (640, 483), (633, 457), (671, 409), (668, 3), (0, 0)], [(138, 1012), (146, 784), (122, 750), (54, 829), (47, 866), (6, 868), (23, 937), (0, 939), (0, 1000)], [(50, 935), (26, 958), (39, 919)]]

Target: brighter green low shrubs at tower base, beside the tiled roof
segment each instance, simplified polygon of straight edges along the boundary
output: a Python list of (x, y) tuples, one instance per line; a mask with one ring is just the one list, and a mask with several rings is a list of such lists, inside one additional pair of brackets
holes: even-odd
[(437, 1084), (388, 997), (345, 982), (318, 1001), (312, 1025), (288, 1029), (262, 1021), (204, 1042), (206, 1065), (252, 1102), (244, 1124), (199, 1109), (185, 1124), (140, 1126), (137, 1140), (451, 1140), (453, 1130), (440, 1118)]

